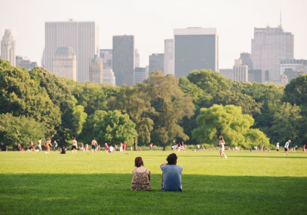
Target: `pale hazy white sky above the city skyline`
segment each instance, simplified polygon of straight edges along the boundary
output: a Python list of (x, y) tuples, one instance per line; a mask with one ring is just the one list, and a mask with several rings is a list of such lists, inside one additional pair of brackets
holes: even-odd
[(113, 35), (134, 35), (140, 66), (164, 52), (174, 28), (217, 28), (219, 68), (232, 68), (241, 52), (251, 52), (254, 27), (277, 27), (294, 35), (294, 57), (307, 59), (306, 0), (0, 0), (0, 38), (12, 29), (16, 55), (41, 65), (45, 21), (96, 21), (99, 46), (112, 48)]

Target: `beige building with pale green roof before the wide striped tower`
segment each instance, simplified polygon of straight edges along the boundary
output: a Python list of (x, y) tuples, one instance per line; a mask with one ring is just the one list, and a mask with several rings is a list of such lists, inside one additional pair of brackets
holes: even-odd
[(58, 47), (52, 59), (52, 73), (77, 80), (77, 57), (72, 47)]

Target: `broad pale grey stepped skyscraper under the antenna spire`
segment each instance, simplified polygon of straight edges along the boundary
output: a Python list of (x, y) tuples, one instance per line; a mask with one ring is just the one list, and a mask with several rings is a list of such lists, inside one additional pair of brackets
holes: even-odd
[(278, 28), (254, 28), (251, 40), (253, 69), (269, 71), (269, 82), (281, 80), (279, 64), (281, 60), (293, 59), (294, 36)]

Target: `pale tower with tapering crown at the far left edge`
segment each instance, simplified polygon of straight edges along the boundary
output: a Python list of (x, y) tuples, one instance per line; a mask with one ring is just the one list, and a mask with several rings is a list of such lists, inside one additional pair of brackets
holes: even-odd
[(1, 58), (16, 66), (15, 40), (10, 29), (6, 29), (1, 40)]

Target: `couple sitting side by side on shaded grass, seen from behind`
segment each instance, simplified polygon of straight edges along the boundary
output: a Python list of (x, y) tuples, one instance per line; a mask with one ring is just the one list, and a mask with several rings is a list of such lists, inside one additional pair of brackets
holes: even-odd
[[(175, 153), (167, 156), (167, 163), (160, 165), (162, 171), (162, 191), (182, 191), (181, 184), (182, 166), (177, 165), (177, 155)], [(141, 157), (134, 160), (135, 169), (132, 170), (131, 190), (150, 191), (150, 170), (144, 167)]]

